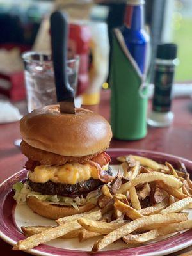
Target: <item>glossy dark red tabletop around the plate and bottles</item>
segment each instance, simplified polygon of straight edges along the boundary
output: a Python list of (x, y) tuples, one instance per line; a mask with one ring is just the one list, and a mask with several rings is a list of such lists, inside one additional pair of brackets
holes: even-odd
[[(17, 104), (22, 114), (26, 113), (25, 102)], [(166, 128), (148, 127), (148, 134), (138, 141), (111, 141), (110, 148), (138, 148), (165, 152), (176, 156), (192, 159), (192, 100), (179, 98), (173, 100), (172, 106), (175, 118), (173, 125)], [(102, 91), (99, 113), (109, 120), (109, 90)], [(18, 172), (24, 166), (26, 157), (13, 145), (20, 138), (19, 122), (0, 125), (0, 182)], [(24, 252), (13, 252), (12, 247), (0, 240), (1, 252), (4, 255), (27, 255)], [(192, 255), (192, 246), (177, 253), (184, 256)]]

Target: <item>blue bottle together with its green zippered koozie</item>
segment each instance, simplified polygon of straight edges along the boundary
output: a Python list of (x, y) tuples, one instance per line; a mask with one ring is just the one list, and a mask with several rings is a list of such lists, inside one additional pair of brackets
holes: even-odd
[(147, 51), (143, 0), (129, 0), (124, 25), (113, 33), (110, 68), (111, 127), (121, 140), (138, 140), (147, 134)]

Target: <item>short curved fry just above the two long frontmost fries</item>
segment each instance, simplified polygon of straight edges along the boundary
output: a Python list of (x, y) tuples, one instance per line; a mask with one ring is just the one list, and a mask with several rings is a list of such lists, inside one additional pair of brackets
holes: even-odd
[(102, 221), (88, 220), (85, 218), (80, 218), (77, 221), (86, 230), (100, 234), (109, 234), (109, 232), (115, 230), (116, 228), (122, 227), (122, 225), (125, 225), (126, 223), (108, 223)]

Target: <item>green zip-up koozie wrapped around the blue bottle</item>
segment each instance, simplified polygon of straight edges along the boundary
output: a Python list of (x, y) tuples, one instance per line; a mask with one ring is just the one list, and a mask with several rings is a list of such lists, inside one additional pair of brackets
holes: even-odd
[(140, 89), (143, 76), (138, 69), (121, 32), (115, 29), (110, 72), (111, 128), (114, 138), (138, 140), (147, 134), (147, 92), (142, 97)]

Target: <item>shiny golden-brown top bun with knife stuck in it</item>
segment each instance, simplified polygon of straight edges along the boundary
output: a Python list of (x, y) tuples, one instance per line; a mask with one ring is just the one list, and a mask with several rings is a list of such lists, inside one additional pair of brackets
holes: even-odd
[(62, 114), (58, 105), (33, 110), (20, 120), (22, 140), (32, 147), (61, 156), (86, 156), (109, 147), (109, 123), (97, 113), (76, 108)]

